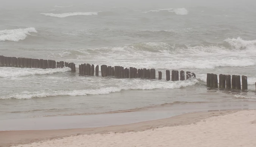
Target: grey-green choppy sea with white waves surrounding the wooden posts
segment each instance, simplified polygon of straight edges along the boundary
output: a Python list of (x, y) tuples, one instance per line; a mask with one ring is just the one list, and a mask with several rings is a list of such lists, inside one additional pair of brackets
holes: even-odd
[[(76, 72), (0, 67), (2, 130), (71, 116), (99, 116), (90, 123), (104, 126), (101, 118), (108, 115), (128, 123), (133, 116), (136, 122), (256, 109), (256, 10), (250, 3), (144, 2), (7, 2), (0, 7), (0, 55), (76, 64)], [(82, 76), (78, 64), (83, 63), (154, 68), (157, 79)], [(196, 79), (166, 81), (165, 70), (194, 72)], [(208, 89), (207, 73), (246, 75), (248, 90)]]

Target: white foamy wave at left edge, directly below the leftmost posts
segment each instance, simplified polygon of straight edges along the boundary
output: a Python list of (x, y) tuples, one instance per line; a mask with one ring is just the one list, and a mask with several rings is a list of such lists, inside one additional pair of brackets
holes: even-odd
[(0, 67), (0, 77), (22, 77), (28, 75), (44, 75), (54, 74), (57, 72), (67, 72), (69, 67), (56, 68), (56, 69), (36, 69), (36, 68), (11, 68), (11, 67)]

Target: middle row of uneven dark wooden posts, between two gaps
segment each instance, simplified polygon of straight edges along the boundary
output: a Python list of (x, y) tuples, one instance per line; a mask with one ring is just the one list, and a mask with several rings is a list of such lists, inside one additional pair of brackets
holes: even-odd
[[(156, 70), (155, 69), (137, 69), (135, 67), (124, 68), (122, 66), (107, 66), (101, 65), (101, 77), (116, 77), (116, 78), (142, 78), (142, 79), (156, 79)], [(94, 64), (80, 64), (79, 65), (79, 74), (81, 75), (91, 75), (94, 76)], [(99, 75), (99, 66), (95, 67), (95, 75)], [(186, 72), (186, 79), (191, 77), (195, 78), (195, 74), (191, 72)], [(162, 79), (162, 72), (158, 72), (158, 79)], [(172, 78), (170, 78), (170, 70), (166, 70), (166, 80), (167, 81), (178, 81), (179, 80), (179, 71), (172, 70)], [(180, 80), (185, 80), (185, 72), (180, 71)]]

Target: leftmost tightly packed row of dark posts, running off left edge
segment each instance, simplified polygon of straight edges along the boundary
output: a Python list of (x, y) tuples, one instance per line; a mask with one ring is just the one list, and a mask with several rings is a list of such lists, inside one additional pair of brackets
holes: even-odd
[(73, 72), (76, 71), (76, 67), (74, 63), (68, 63), (64, 61), (56, 62), (55, 60), (5, 57), (2, 55), (0, 55), (0, 67), (41, 68), (41, 69), (55, 69), (55, 68), (70, 67)]

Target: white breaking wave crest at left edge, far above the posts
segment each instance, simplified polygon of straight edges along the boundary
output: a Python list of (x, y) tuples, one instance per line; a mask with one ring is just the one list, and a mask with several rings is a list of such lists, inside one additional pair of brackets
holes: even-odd
[(0, 31), (0, 41), (19, 41), (24, 40), (30, 32), (37, 33), (35, 28), (12, 29)]

